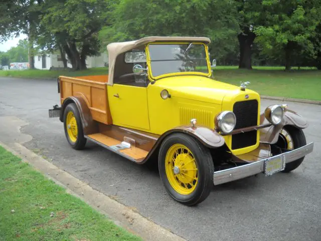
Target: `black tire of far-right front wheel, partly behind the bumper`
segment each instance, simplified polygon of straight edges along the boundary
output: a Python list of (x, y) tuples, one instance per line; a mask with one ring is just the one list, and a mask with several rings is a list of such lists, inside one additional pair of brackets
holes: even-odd
[[(290, 135), (293, 142), (293, 149), (300, 148), (306, 145), (306, 140), (304, 133), (301, 129), (298, 129), (293, 126), (285, 126), (283, 129)], [(279, 136), (278, 142), (276, 144), (280, 148), (287, 149), (287, 143), (284, 143), (284, 137)], [(285, 169), (282, 172), (288, 173), (296, 169), (304, 160), (304, 157), (297, 159), (293, 162), (287, 163)]]

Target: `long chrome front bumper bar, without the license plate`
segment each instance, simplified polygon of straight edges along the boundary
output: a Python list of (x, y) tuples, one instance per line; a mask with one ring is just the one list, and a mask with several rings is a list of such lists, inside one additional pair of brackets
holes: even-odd
[[(277, 156), (284, 156), (285, 163), (293, 162), (305, 155), (311, 153), (313, 150), (313, 142), (295, 149), (293, 151), (285, 152)], [(273, 158), (277, 157), (273, 156)], [(214, 172), (214, 185), (219, 185), (226, 182), (231, 182), (241, 178), (253, 176), (258, 173), (262, 173), (265, 170), (265, 162), (270, 158), (263, 159), (257, 162), (246, 164), (239, 167), (234, 167), (222, 171)]]

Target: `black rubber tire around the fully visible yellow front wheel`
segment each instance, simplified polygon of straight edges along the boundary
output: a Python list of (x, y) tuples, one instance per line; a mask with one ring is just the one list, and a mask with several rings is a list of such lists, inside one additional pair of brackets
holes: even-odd
[[(198, 171), (198, 181), (194, 191), (190, 194), (183, 195), (177, 192), (169, 182), (166, 174), (166, 155), (175, 144), (186, 146), (194, 156)], [(167, 192), (178, 202), (193, 206), (204, 201), (211, 192), (213, 187), (214, 164), (208, 148), (202, 145), (198, 140), (186, 134), (177, 133), (167, 137), (161, 145), (158, 155), (159, 176)]]

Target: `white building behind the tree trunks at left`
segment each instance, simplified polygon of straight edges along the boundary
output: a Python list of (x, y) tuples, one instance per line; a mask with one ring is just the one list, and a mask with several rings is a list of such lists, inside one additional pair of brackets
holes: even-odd
[[(66, 56), (67, 58), (67, 56)], [(87, 57), (86, 65), (87, 68), (104, 67), (108, 63), (107, 53), (102, 53), (99, 56)], [(35, 56), (35, 68), (36, 69), (50, 69), (50, 67), (63, 68), (64, 63), (62, 62), (60, 54), (46, 54)], [(67, 67), (72, 68), (70, 61), (67, 61)]]

